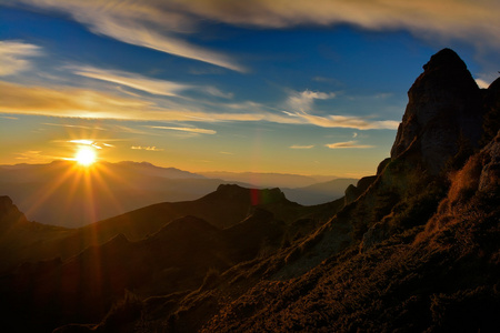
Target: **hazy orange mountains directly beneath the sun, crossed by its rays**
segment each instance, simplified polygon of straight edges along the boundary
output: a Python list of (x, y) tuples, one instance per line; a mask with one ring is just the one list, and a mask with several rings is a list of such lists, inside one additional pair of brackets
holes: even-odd
[(78, 228), (158, 202), (194, 200), (221, 180), (149, 163), (100, 162), (84, 169), (70, 161), (0, 167), (0, 194), (29, 220)]

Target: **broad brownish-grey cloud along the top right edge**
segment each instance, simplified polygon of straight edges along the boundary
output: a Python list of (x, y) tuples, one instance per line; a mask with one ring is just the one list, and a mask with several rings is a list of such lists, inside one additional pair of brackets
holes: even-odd
[(352, 24), (368, 30), (404, 29), (424, 39), (467, 40), (500, 48), (497, 0), (171, 0), (184, 12), (239, 26), (288, 28)]

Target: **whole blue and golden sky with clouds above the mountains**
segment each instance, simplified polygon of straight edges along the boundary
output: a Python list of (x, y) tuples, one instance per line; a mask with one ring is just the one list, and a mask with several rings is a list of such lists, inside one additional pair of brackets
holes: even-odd
[(497, 0), (0, 0), (0, 164), (363, 176), (453, 49), (500, 70)]

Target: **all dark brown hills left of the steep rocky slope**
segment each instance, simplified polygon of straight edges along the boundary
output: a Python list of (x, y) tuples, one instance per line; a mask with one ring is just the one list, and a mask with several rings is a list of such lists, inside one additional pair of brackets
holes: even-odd
[[(20, 309), (31, 316), (21, 331), (98, 321), (126, 290), (142, 296), (189, 293), (208, 283), (210, 274), (300, 238), (342, 205), (307, 208), (279, 189), (222, 184), (197, 201), (156, 204), (47, 236), (53, 226), (28, 222), (10, 199), (2, 202), (0, 226), (31, 236), (2, 234), (17, 244), (2, 252), (2, 262), (18, 266), (0, 278), (1, 302), (10, 304), (12, 317)], [(30, 231), (33, 225), (40, 234)]]

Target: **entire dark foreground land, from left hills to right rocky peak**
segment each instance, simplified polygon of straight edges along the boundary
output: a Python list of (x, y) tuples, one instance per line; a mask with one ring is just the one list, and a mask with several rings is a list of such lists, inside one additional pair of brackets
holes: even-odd
[(498, 332), (500, 79), (444, 49), (408, 95), (391, 157), (324, 204), (221, 184), (64, 229), (0, 198), (3, 329)]

